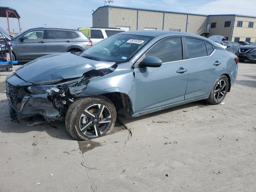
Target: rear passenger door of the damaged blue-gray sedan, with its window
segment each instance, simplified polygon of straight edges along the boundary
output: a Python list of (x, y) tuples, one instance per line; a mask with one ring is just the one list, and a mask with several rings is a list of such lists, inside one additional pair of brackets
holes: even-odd
[(221, 63), (214, 54), (214, 46), (197, 38), (186, 38), (189, 74), (185, 100), (205, 96), (216, 79), (216, 68)]

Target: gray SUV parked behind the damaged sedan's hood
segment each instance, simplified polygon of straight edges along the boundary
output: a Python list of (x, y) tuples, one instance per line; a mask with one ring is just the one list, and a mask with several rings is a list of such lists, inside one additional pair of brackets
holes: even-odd
[(14, 36), (10, 42), (18, 61), (31, 61), (60, 52), (81, 52), (92, 46), (82, 31), (65, 28), (29, 29)]

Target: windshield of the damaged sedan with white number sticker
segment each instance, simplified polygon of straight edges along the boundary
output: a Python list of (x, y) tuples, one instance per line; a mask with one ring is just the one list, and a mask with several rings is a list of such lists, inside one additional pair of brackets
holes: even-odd
[(126, 62), (153, 37), (116, 34), (106, 38), (80, 54), (99, 61)]

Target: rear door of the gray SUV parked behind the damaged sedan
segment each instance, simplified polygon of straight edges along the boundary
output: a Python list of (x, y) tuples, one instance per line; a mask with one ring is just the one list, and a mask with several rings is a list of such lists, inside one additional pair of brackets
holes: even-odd
[(66, 52), (70, 46), (72, 46), (72, 40), (69, 31), (47, 30), (46, 54)]

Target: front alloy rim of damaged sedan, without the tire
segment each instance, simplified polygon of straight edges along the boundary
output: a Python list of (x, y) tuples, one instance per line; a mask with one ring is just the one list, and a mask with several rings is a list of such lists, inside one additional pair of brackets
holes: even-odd
[(110, 123), (110, 110), (103, 104), (93, 104), (81, 114), (79, 128), (82, 134), (94, 138), (106, 132)]

